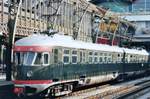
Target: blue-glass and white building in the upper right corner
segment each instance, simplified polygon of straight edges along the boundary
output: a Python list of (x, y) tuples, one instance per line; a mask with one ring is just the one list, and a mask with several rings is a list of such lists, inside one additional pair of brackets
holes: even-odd
[(145, 46), (150, 50), (150, 0), (91, 0), (98, 6), (104, 6), (136, 24), (132, 44)]

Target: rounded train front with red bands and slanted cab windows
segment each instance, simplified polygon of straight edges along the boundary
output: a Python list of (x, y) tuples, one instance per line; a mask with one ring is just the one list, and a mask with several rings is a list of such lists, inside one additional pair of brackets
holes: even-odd
[(27, 37), (15, 43), (13, 76), (17, 95), (34, 95), (52, 84), (45, 75), (49, 72), (50, 53), (51, 48), (43, 46), (38, 37)]

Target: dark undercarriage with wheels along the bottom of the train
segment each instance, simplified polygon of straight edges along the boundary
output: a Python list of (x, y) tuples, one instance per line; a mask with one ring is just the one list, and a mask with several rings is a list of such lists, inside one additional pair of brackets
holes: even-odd
[[(138, 71), (138, 72), (130, 72), (130, 73), (122, 73), (122, 74), (118, 74), (118, 76), (116, 76), (115, 79), (106, 79), (105, 81), (111, 81), (111, 80), (116, 80), (116, 81), (124, 81), (127, 79), (134, 79), (137, 77), (144, 77), (144, 76), (148, 76), (150, 75), (150, 70), (147, 71)], [(145, 75), (146, 74), (146, 75)], [(85, 80), (86, 78), (84, 78), (84, 81), (87, 82)], [(95, 78), (94, 78), (95, 79)], [(91, 79), (92, 81), (93, 79)], [(74, 81), (65, 81), (65, 82), (53, 82), (53, 84), (49, 84), (44, 86), (44, 89), (39, 90), (40, 88), (36, 88), (38, 86), (35, 85), (21, 85), (21, 86), (16, 86), (16, 88), (18, 87), (22, 87), (25, 90), (21, 91), (21, 93), (18, 93), (18, 96), (33, 96), (33, 95), (38, 95), (40, 97), (59, 97), (59, 96), (63, 96), (63, 95), (67, 95), (70, 94), (74, 89), (76, 89), (77, 87), (83, 87), (83, 86), (87, 86), (87, 85), (91, 85), (91, 84), (97, 84), (97, 83), (102, 83), (105, 82), (104, 80), (99, 82), (95, 82), (95, 83), (90, 83), (90, 84), (85, 84), (85, 83), (80, 83), (81, 81), (83, 81), (83, 78), (79, 79), (79, 80), (74, 80)], [(93, 80), (94, 82), (94, 80)]]

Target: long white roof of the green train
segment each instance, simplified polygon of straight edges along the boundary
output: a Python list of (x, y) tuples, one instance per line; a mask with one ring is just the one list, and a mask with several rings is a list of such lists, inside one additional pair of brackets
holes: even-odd
[(29, 37), (25, 37), (16, 41), (15, 46), (40, 46), (40, 47), (69, 47), (69, 48), (77, 48), (77, 49), (88, 49), (88, 50), (100, 50), (106, 52), (117, 52), (131, 54), (142, 54), (148, 55), (146, 50), (137, 50), (137, 49), (128, 49), (128, 48), (121, 48), (118, 46), (109, 46), (105, 44), (94, 44), (90, 42), (83, 42), (78, 40), (73, 40), (70, 36), (55, 34), (53, 36), (46, 36), (46, 35), (32, 35)]

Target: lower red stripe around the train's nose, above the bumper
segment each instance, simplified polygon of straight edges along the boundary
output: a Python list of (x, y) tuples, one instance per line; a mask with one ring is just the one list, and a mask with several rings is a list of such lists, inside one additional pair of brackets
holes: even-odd
[(52, 80), (15, 80), (15, 84), (50, 84)]

